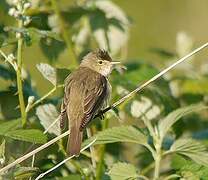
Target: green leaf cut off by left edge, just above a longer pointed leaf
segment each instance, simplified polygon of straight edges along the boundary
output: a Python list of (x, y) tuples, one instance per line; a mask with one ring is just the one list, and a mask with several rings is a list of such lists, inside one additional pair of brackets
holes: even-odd
[(1, 123), (0, 124), (0, 135), (5, 135), (5, 133), (20, 127), (20, 125), (21, 125), (20, 119), (16, 119), (16, 120), (12, 120), (12, 121), (10, 120), (10, 121)]

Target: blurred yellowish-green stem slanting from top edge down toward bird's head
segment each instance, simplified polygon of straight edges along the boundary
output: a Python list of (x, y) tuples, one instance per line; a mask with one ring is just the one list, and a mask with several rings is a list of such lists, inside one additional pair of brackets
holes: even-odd
[(69, 38), (69, 37), (72, 37), (71, 33), (69, 31), (69, 28), (67, 28), (66, 25), (65, 25), (65, 22), (62, 18), (61, 11), (58, 7), (58, 4), (57, 4), (56, 0), (51, 0), (51, 3), (52, 3), (52, 7), (54, 9), (54, 12), (55, 12), (56, 16), (58, 17), (61, 34), (63, 36), (64, 42), (66, 43), (67, 50), (69, 52), (69, 56), (70, 56), (70, 59), (71, 59), (71, 67), (76, 67), (78, 65), (78, 62), (77, 62), (76, 54), (75, 54), (74, 49), (73, 49), (72, 41)]

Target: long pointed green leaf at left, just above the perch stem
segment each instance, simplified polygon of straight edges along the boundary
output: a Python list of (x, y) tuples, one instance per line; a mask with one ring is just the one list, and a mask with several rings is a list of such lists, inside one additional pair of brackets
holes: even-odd
[(4, 134), (4, 136), (20, 141), (38, 144), (44, 144), (47, 142), (46, 135), (44, 135), (43, 132), (37, 129), (18, 129), (14, 131), (9, 131)]

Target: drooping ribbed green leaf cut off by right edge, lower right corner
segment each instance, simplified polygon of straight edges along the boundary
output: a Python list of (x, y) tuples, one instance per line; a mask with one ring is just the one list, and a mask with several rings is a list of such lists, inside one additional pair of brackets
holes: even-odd
[(198, 164), (208, 166), (208, 151), (206, 147), (193, 139), (178, 139), (176, 140), (170, 150), (189, 157)]

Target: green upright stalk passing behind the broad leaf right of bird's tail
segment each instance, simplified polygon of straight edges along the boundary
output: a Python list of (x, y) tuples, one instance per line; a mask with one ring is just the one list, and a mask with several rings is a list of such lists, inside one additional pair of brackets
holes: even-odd
[[(105, 121), (103, 122), (103, 125), (102, 125), (102, 130), (107, 129), (108, 123), (109, 123), (109, 120), (105, 119)], [(101, 176), (103, 174), (105, 149), (106, 149), (106, 145), (105, 144), (101, 145), (100, 152), (99, 152), (98, 165), (97, 165), (97, 169), (96, 169), (96, 180), (100, 180)]]

